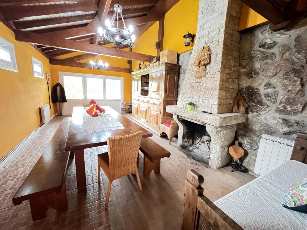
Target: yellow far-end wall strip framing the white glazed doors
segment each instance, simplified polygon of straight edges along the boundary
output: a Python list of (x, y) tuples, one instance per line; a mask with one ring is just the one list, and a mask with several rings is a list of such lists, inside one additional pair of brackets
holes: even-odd
[[(125, 59), (123, 59), (123, 60), (125, 60)], [(131, 94), (132, 94), (132, 78), (131, 78), (131, 75), (129, 73), (104, 71), (104, 70), (93, 70), (93, 69), (70, 67), (70, 66), (51, 65), (51, 76), (53, 78), (54, 84), (59, 82), (59, 71), (70, 72), (70, 73), (95, 74), (95, 75), (123, 77), (124, 78), (124, 94), (123, 94), (124, 101), (130, 101), (132, 99), (132, 97), (131, 97)]]

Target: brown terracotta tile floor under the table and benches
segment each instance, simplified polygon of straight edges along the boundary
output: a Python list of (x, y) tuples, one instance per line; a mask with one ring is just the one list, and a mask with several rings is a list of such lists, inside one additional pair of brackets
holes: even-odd
[(139, 191), (132, 175), (113, 182), (108, 210), (104, 209), (107, 177), (103, 174), (101, 186), (97, 183), (97, 152), (106, 146), (85, 151), (87, 193), (78, 194), (74, 161), (67, 170), (66, 188), (68, 211), (56, 214), (47, 211), (44, 220), (33, 222), (29, 201), (14, 206), (12, 197), (51, 140), (62, 117), (55, 117), (23, 144), (14, 156), (0, 168), (0, 229), (180, 229), (182, 202), (186, 172), (195, 169), (205, 178), (204, 194), (216, 201), (255, 177), (251, 174), (231, 172), (230, 167), (215, 170), (205, 163), (197, 162), (168, 140), (152, 139), (171, 152), (170, 158), (161, 161), (161, 174), (153, 172), (149, 179), (143, 178), (143, 155), (140, 155), (139, 172), (143, 192)]

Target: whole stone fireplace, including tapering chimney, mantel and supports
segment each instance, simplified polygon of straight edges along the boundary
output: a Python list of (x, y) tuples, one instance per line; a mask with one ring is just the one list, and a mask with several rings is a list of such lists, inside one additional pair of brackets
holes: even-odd
[[(195, 144), (197, 125), (204, 127), (202, 132), (211, 138), (209, 165), (214, 168), (229, 163), (228, 147), (234, 140), (236, 124), (247, 119), (246, 114), (231, 113), (239, 88), (240, 10), (239, 0), (199, 1), (196, 41), (184, 79), (180, 80), (177, 105), (166, 106), (179, 125), (179, 147)], [(211, 63), (205, 77), (196, 79), (193, 62), (205, 42), (211, 48)], [(188, 101), (196, 103), (196, 110), (185, 109)]]

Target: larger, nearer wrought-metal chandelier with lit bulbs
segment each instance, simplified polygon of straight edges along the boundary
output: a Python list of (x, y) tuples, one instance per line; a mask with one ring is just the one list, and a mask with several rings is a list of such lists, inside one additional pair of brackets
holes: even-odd
[[(119, 28), (119, 15), (122, 18), (122, 23), (124, 25), (124, 29)], [(117, 19), (117, 27), (114, 27), (115, 18)], [(122, 6), (119, 4), (114, 5), (114, 14), (111, 19), (107, 19), (105, 21), (107, 26), (106, 29), (102, 29), (101, 27), (98, 28), (99, 33), (99, 41), (103, 43), (104, 40), (110, 41), (111, 43), (115, 44), (117, 48), (119, 46), (123, 46), (128, 44), (131, 48), (135, 47), (135, 35), (132, 33), (134, 28), (132, 25), (126, 28), (124, 18), (122, 17)]]

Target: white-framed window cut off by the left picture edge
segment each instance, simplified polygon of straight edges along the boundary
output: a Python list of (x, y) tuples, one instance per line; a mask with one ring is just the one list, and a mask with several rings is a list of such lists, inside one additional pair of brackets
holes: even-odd
[(2, 37), (0, 37), (0, 68), (18, 72), (14, 45)]

